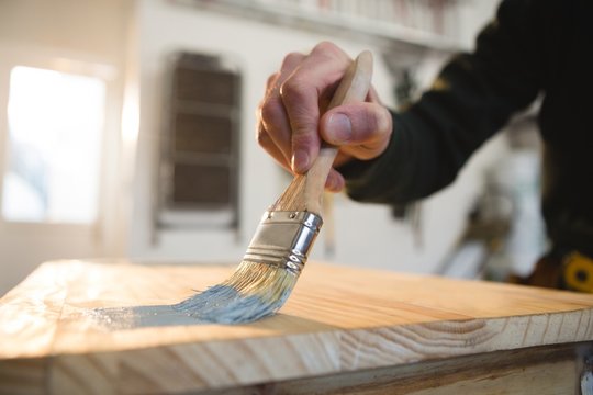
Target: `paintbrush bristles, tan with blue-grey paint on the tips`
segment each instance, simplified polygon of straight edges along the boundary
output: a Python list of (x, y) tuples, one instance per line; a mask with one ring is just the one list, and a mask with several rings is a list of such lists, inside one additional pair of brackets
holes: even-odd
[(283, 267), (242, 261), (223, 283), (174, 307), (209, 323), (250, 323), (282, 307), (296, 280), (298, 276)]

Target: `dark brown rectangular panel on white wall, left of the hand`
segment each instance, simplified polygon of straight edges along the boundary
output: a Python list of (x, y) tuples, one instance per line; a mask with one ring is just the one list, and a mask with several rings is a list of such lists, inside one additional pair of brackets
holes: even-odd
[(160, 227), (237, 225), (239, 82), (221, 57), (171, 63), (161, 136)]

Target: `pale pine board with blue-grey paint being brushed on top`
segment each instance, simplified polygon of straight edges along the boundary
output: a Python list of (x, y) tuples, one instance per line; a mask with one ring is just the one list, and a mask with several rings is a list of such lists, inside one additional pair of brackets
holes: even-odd
[(0, 393), (216, 390), (593, 339), (592, 295), (317, 262), (258, 323), (164, 313), (233, 270), (43, 264), (0, 300)]

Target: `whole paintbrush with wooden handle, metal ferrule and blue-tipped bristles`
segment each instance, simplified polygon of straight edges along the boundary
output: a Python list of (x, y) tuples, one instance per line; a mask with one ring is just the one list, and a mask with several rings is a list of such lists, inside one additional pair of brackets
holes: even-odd
[[(363, 101), (372, 75), (372, 55), (353, 61), (328, 105)], [(250, 323), (275, 314), (287, 301), (322, 226), (322, 199), (337, 148), (323, 145), (305, 174), (294, 177), (261, 222), (235, 272), (174, 306), (200, 320)]]

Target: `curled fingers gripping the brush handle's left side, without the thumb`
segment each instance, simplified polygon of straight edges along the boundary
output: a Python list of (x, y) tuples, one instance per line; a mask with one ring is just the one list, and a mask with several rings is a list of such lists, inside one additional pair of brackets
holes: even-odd
[(258, 142), (284, 167), (303, 173), (315, 160), (320, 105), (332, 98), (350, 61), (334, 44), (321, 43), (309, 55), (288, 55), (268, 80), (258, 112)]

